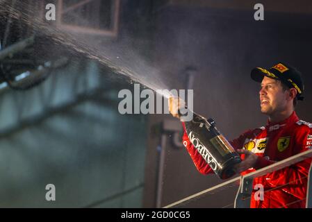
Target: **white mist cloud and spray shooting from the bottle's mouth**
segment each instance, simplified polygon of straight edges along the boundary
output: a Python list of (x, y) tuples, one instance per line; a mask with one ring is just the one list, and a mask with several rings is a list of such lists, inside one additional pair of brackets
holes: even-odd
[[(44, 22), (42, 17), (34, 10), (29, 10), (30, 8), (22, 1), (18, 2), (18, 7), (15, 1), (12, 4), (0, 1), (0, 15), (9, 15), (10, 19), (20, 19), (27, 26), (32, 26), (40, 35), (50, 37), (57, 44), (56, 50), (58, 47), (66, 47), (77, 56), (95, 60), (100, 65), (109, 68), (114, 74), (129, 78), (131, 84), (140, 83), (142, 87), (154, 91), (168, 89), (165, 82), (168, 83), (169, 78), (163, 80), (159, 70), (151, 65), (151, 60), (140, 56), (138, 49), (133, 49), (136, 46), (131, 44), (131, 37), (123, 36), (118, 40), (104, 42), (88, 37), (88, 35), (69, 33), (54, 24)], [(169, 95), (163, 94), (163, 96)]]

